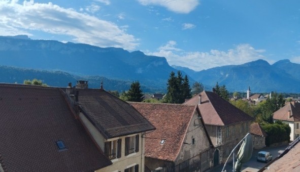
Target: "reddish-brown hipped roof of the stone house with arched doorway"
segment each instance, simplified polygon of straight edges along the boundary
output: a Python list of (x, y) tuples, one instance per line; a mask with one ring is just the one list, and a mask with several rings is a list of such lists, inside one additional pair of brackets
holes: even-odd
[[(201, 104), (199, 104), (199, 95), (201, 95)], [(231, 105), (228, 101), (213, 92), (204, 91), (199, 95), (192, 97), (184, 104), (199, 104), (198, 108), (205, 124), (231, 125), (253, 120), (253, 117)]]

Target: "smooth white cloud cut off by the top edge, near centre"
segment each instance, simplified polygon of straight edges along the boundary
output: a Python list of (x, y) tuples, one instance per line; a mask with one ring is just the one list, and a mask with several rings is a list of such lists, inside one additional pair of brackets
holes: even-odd
[(167, 8), (176, 13), (190, 13), (198, 5), (198, 0), (138, 0), (142, 5), (156, 5)]

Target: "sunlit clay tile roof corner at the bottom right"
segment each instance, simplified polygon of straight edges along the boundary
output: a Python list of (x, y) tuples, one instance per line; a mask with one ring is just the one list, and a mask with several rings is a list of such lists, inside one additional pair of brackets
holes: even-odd
[(290, 151), (269, 165), (264, 171), (300, 171), (300, 143), (297, 143)]

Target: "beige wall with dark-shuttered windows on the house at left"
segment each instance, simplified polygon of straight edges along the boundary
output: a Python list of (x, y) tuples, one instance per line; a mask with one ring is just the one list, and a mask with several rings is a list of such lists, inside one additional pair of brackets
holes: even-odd
[(89, 131), (90, 135), (93, 137), (95, 142), (98, 144), (98, 146), (102, 149), (104, 152), (104, 143), (108, 141), (114, 141), (118, 139), (122, 139), (121, 143), (121, 157), (112, 159), (112, 165), (109, 165), (105, 168), (96, 170), (97, 172), (109, 172), (109, 171), (124, 171), (126, 168), (139, 165), (139, 171), (144, 171), (144, 163), (145, 163), (145, 139), (142, 137), (144, 133), (139, 133), (139, 152), (131, 153), (127, 156), (125, 156), (125, 137), (131, 137), (136, 136), (134, 135), (128, 135), (123, 137), (117, 137), (106, 140), (101, 133), (95, 128), (95, 126), (85, 117), (83, 113), (79, 114), (80, 119), (86, 126), (87, 130)]

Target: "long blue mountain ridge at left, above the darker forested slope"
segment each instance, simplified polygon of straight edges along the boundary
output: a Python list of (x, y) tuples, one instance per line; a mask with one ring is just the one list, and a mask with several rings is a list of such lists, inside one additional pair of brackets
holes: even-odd
[[(130, 53), (120, 48), (31, 40), (26, 35), (0, 36), (0, 65), (60, 70), (130, 82), (139, 80), (154, 90), (165, 90), (171, 71), (177, 71), (165, 58), (147, 56), (140, 51)], [(190, 81), (193, 82), (192, 78)]]

